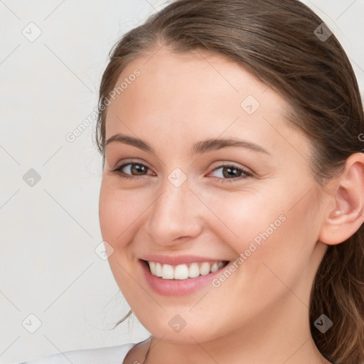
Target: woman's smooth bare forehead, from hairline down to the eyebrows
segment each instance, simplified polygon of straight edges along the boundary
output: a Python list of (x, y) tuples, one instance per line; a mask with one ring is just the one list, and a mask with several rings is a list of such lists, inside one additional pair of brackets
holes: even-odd
[(106, 139), (131, 130), (143, 139), (155, 139), (151, 131), (157, 130), (159, 141), (179, 144), (183, 137), (187, 142), (236, 134), (274, 149), (282, 146), (282, 128), (294, 139), (284, 122), (284, 98), (223, 55), (161, 48), (129, 63), (115, 87)]

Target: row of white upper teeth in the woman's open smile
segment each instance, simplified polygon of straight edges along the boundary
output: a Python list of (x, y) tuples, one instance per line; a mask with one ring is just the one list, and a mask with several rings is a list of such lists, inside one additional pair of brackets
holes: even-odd
[(161, 264), (159, 262), (149, 262), (149, 268), (151, 269), (151, 274), (156, 277), (162, 277), (163, 279), (187, 279), (195, 278), (199, 275), (205, 276), (210, 272), (216, 272), (219, 268), (225, 265), (224, 262), (203, 262), (189, 264), (179, 264), (173, 267), (170, 264)]

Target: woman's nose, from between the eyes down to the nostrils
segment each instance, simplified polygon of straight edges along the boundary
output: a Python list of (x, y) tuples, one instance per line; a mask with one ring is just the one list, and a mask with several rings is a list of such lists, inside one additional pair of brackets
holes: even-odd
[(166, 178), (156, 193), (146, 223), (156, 245), (180, 245), (193, 240), (203, 229), (203, 204), (190, 190), (188, 179), (175, 186)]

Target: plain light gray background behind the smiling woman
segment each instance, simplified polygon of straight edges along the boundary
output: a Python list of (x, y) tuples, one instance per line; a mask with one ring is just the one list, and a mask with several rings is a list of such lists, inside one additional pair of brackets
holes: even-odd
[[(304, 2), (341, 41), (363, 95), (364, 0)], [(129, 306), (95, 252), (101, 158), (90, 114), (112, 45), (164, 4), (0, 0), (0, 363), (149, 336), (136, 318), (110, 330)], [(30, 168), (41, 176), (33, 187)]]

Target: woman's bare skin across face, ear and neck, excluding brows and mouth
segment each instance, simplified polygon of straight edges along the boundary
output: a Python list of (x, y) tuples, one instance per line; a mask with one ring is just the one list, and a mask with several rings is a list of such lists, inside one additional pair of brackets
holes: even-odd
[[(138, 137), (155, 153), (107, 144), (100, 190), (112, 273), (152, 334), (146, 363), (329, 363), (311, 338), (309, 295), (327, 245), (363, 223), (363, 155), (351, 156), (342, 176), (321, 188), (310, 170), (309, 140), (289, 126), (289, 105), (270, 87), (220, 55), (177, 55), (166, 47), (152, 54), (119, 76), (117, 85), (141, 72), (107, 108), (106, 139)], [(253, 114), (240, 106), (247, 95), (260, 103)], [(191, 154), (197, 141), (224, 137), (269, 154), (243, 147)], [(134, 180), (111, 172), (131, 162), (148, 168), (138, 175), (124, 167)], [(252, 176), (227, 176), (221, 166), (231, 163)], [(168, 180), (175, 168), (187, 177), (179, 187)], [(280, 215), (284, 223), (218, 288), (161, 296), (144, 279), (141, 255), (234, 261)], [(176, 314), (186, 321), (179, 333), (168, 326)], [(143, 363), (149, 344), (134, 346), (124, 363)]]

